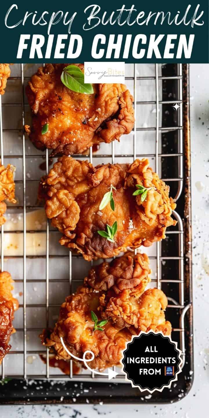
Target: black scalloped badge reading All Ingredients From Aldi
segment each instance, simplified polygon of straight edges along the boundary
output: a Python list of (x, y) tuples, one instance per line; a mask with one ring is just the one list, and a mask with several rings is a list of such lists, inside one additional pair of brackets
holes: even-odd
[(181, 372), (181, 350), (177, 343), (162, 332), (141, 332), (133, 336), (123, 351), (122, 370), (126, 380), (141, 391), (162, 391), (171, 387), (171, 382), (177, 380)]

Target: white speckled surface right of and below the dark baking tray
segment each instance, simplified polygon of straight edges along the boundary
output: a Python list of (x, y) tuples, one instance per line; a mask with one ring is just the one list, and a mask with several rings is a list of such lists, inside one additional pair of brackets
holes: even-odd
[[(191, 64), (191, 169), (193, 215), (193, 294), (194, 294), (194, 385), (186, 398), (172, 405), (23, 405), (1, 406), (0, 415), (11, 418), (94, 418), (109, 415), (125, 418), (196, 418), (208, 408), (209, 393), (209, 64)], [(206, 412), (205, 412), (206, 414)]]

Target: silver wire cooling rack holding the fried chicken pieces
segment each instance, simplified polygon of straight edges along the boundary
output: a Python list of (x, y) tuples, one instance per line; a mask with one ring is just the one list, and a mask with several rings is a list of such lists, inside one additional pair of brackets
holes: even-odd
[[(178, 166), (178, 175), (176, 177), (172, 177), (172, 178), (163, 178), (163, 180), (168, 181), (169, 183), (171, 182), (175, 182), (176, 186), (176, 196), (175, 199), (178, 200), (179, 197), (181, 196), (182, 193), (182, 184), (183, 184), (183, 108), (182, 108), (182, 65), (178, 64), (178, 73), (177, 75), (171, 75), (171, 76), (163, 76), (163, 75), (159, 75), (159, 70), (161, 71), (161, 66), (159, 66), (158, 64), (152, 64), (154, 67), (154, 74), (149, 73), (149, 75), (146, 75), (146, 71), (145, 74), (143, 75), (138, 75), (138, 67), (136, 64), (133, 64), (133, 75), (126, 77), (126, 82), (128, 84), (128, 82), (133, 82), (133, 96), (134, 96), (134, 109), (135, 109), (135, 120), (137, 120), (137, 112), (139, 109), (140, 105), (152, 105), (156, 107), (156, 115), (155, 115), (155, 126), (137, 126), (137, 123), (135, 123), (134, 129), (133, 129), (133, 153), (124, 153), (125, 148), (120, 148), (119, 152), (115, 152), (115, 143), (112, 142), (112, 144), (110, 145), (112, 147), (112, 153), (110, 152), (110, 148), (108, 148), (109, 153), (105, 154), (105, 153), (100, 153), (99, 154), (99, 158), (101, 161), (101, 159), (105, 159), (108, 160), (108, 162), (112, 162), (115, 163), (116, 160), (117, 162), (122, 161), (124, 158), (127, 159), (129, 158), (129, 162), (135, 160), (135, 158), (143, 158), (143, 157), (148, 157), (151, 160), (154, 161), (155, 166), (153, 168), (155, 168), (155, 171), (159, 173), (159, 175), (161, 175), (161, 161), (163, 158), (176, 158), (175, 161), (177, 161), (177, 166)], [(29, 180), (27, 178), (27, 161), (29, 160), (29, 158), (32, 158), (33, 160), (33, 165), (35, 165), (35, 158), (40, 158), (40, 153), (26, 153), (25, 152), (25, 135), (24, 135), (24, 124), (25, 124), (25, 109), (28, 106), (26, 101), (25, 101), (25, 94), (24, 94), (24, 89), (25, 89), (25, 85), (24, 83), (27, 82), (29, 79), (28, 76), (25, 76), (24, 74), (24, 64), (20, 64), (20, 75), (17, 76), (12, 76), (10, 78), (10, 80), (13, 80), (15, 82), (20, 82), (19, 87), (21, 89), (21, 101), (20, 102), (16, 102), (16, 103), (7, 103), (6, 100), (6, 93), (5, 93), (5, 100), (2, 103), (2, 98), (0, 96), (0, 148), (1, 148), (1, 161), (2, 163), (6, 163), (7, 161), (10, 162), (10, 160), (17, 160), (21, 166), (22, 166), (22, 178), (19, 180), (16, 180), (15, 183), (16, 185), (21, 185), (22, 189), (21, 189), (21, 193), (22, 193), (22, 203), (20, 204), (18, 203), (16, 208), (12, 208), (11, 211), (14, 211), (16, 209), (18, 209), (22, 215), (23, 215), (23, 229), (20, 231), (13, 231), (14, 233), (19, 232), (22, 234), (23, 237), (23, 254), (22, 255), (6, 255), (4, 254), (4, 249), (5, 249), (5, 244), (4, 244), (4, 240), (5, 240), (5, 235), (6, 234), (10, 234), (10, 231), (5, 231), (4, 232), (4, 227), (1, 227), (1, 270), (3, 271), (5, 268), (5, 263), (4, 263), (4, 257), (6, 257), (6, 259), (11, 259), (12, 263), (15, 264), (15, 260), (17, 260), (18, 258), (21, 258), (21, 260), (23, 260), (23, 278), (18, 278), (18, 280), (15, 280), (16, 282), (22, 283), (23, 285), (23, 303), (20, 303), (20, 308), (22, 308), (22, 313), (23, 313), (23, 326), (19, 326), (16, 327), (16, 331), (17, 333), (19, 332), (21, 336), (23, 336), (23, 347), (21, 349), (13, 349), (13, 340), (11, 339), (12, 342), (12, 349), (9, 352), (7, 358), (9, 358), (11, 355), (20, 355), (20, 357), (18, 357), (18, 362), (22, 362), (23, 363), (23, 371), (21, 373), (13, 373), (8, 367), (5, 367), (5, 360), (2, 363), (2, 370), (1, 370), (1, 374), (2, 374), (2, 378), (5, 377), (5, 375), (9, 375), (9, 376), (13, 376), (16, 378), (47, 378), (47, 379), (71, 379), (71, 380), (75, 380), (75, 381), (79, 381), (79, 380), (91, 380), (92, 378), (99, 380), (99, 382), (107, 382), (107, 377), (98, 377), (97, 375), (94, 376), (94, 373), (92, 373), (92, 375), (89, 375), (89, 373), (82, 373), (81, 375), (73, 375), (73, 367), (72, 367), (72, 361), (71, 363), (71, 373), (70, 376), (65, 376), (61, 373), (56, 373), (54, 374), (54, 369), (52, 369), (50, 367), (49, 364), (49, 351), (48, 348), (46, 350), (44, 349), (31, 349), (28, 348), (28, 340), (27, 340), (27, 335), (28, 333), (30, 333), (31, 331), (36, 332), (37, 334), (37, 339), (38, 339), (38, 333), (42, 330), (43, 327), (48, 326), (49, 325), (49, 321), (50, 321), (50, 309), (54, 308), (56, 311), (59, 310), (59, 303), (51, 303), (50, 302), (50, 297), (49, 297), (49, 289), (50, 289), (50, 285), (56, 281), (55, 279), (51, 279), (51, 271), (50, 271), (50, 260), (53, 258), (54, 260), (59, 260), (59, 263), (61, 263), (62, 260), (67, 259), (68, 260), (68, 264), (69, 264), (69, 272), (66, 272), (66, 277), (64, 279), (60, 279), (59, 283), (62, 285), (62, 283), (68, 283), (69, 284), (69, 293), (72, 293), (72, 285), (76, 284), (79, 280), (77, 280), (76, 276), (74, 276), (73, 273), (73, 266), (74, 263), (80, 263), (79, 260), (81, 260), (81, 257), (79, 257), (78, 255), (74, 255), (71, 252), (69, 253), (64, 253), (63, 255), (58, 255), (54, 254), (51, 255), (50, 253), (50, 238), (51, 238), (51, 233), (55, 233), (57, 236), (57, 232), (56, 231), (51, 231), (50, 226), (48, 224), (48, 221), (46, 222), (46, 229), (43, 232), (41, 231), (33, 231), (33, 230), (28, 230), (27, 229), (27, 224), (26, 224), (26, 215), (27, 215), (27, 210), (33, 210), (33, 209), (37, 209), (36, 205), (33, 204), (26, 204), (26, 187), (27, 187), (27, 183), (31, 184), (31, 187), (33, 186), (33, 183), (35, 182), (34, 180)], [(159, 88), (159, 83), (161, 83), (160, 85), (162, 85), (164, 80), (173, 80), (173, 82), (177, 82), (178, 83), (178, 97), (172, 98), (172, 100), (168, 99), (168, 100), (163, 100), (161, 99), (161, 90)], [(142, 82), (148, 82), (151, 83), (153, 82), (153, 89), (155, 91), (155, 99), (149, 99), (149, 100), (144, 100), (144, 101), (140, 101), (138, 100), (138, 83), (142, 83)], [(140, 95), (140, 91), (139, 91), (139, 95)], [(172, 109), (172, 107), (175, 104), (178, 104), (178, 109), (174, 110)], [(160, 112), (158, 111), (159, 107), (162, 105), (170, 105), (171, 106), (171, 110), (173, 112), (176, 112), (177, 115), (177, 120), (178, 120), (178, 124), (175, 126), (166, 126), (166, 127), (162, 127), (160, 126)], [(6, 107), (10, 107), (10, 106), (17, 106), (20, 107), (21, 109), (21, 129), (10, 129), (10, 127), (8, 128), (7, 126), (4, 127), (3, 124), (3, 109)], [(162, 152), (162, 147), (161, 147), (161, 151), (159, 152), (160, 149), (160, 142), (161, 142), (161, 138), (160, 135), (162, 133), (169, 133), (171, 131), (176, 131), (177, 135), (178, 135), (178, 152), (175, 153), (163, 153)], [(137, 135), (138, 135), (138, 131), (143, 131), (143, 133), (148, 134), (150, 132), (153, 131), (154, 135), (155, 135), (155, 149), (153, 150), (153, 152), (149, 151), (146, 153), (138, 153), (138, 147), (137, 147)], [(13, 132), (18, 132), (20, 134), (21, 132), (21, 143), (22, 143), (22, 153), (13, 153), (13, 150), (10, 150), (10, 153), (6, 153), (4, 155), (3, 153), (3, 148), (4, 148), (4, 136), (8, 133), (13, 133)], [(105, 147), (106, 144), (104, 144)], [(31, 145), (32, 147), (32, 145)], [(105, 149), (105, 148), (102, 148)], [(121, 152), (122, 149), (122, 152)], [(146, 151), (146, 150), (145, 150)], [(90, 149), (89, 154), (87, 155), (75, 155), (75, 158), (89, 158), (89, 161), (92, 163), (93, 161), (96, 161), (95, 158), (98, 158), (97, 153), (94, 153), (92, 151), (92, 148)], [(102, 160), (103, 162), (103, 160)], [(48, 150), (46, 150), (46, 173), (48, 173)], [(36, 179), (36, 183), (39, 180), (39, 178)], [(178, 206), (177, 206), (178, 207)], [(26, 210), (27, 209), (27, 210)], [(175, 284), (178, 284), (178, 299), (176, 300), (176, 298), (173, 298), (172, 295), (167, 293), (168, 296), (168, 310), (169, 308), (174, 308), (176, 309), (176, 311), (178, 310), (180, 312), (179, 315), (179, 326), (176, 328), (173, 328), (173, 340), (179, 341), (180, 344), (180, 349), (182, 351), (182, 357), (183, 357), (183, 361), (184, 361), (184, 356), (185, 356), (185, 339), (184, 339), (184, 316), (186, 314), (186, 311), (189, 308), (189, 305), (184, 305), (184, 229), (183, 229), (183, 223), (182, 223), (182, 219), (181, 216), (178, 214), (178, 212), (173, 212), (173, 216), (177, 219), (178, 224), (175, 230), (168, 230), (166, 232), (166, 235), (172, 240), (174, 235), (176, 235), (177, 241), (178, 241), (178, 249), (177, 249), (177, 255), (169, 255), (168, 257), (164, 256), (161, 253), (161, 243), (157, 243), (155, 246), (155, 254), (150, 255), (150, 259), (155, 261), (155, 271), (154, 271), (154, 278), (152, 278), (152, 282), (154, 283), (155, 286), (157, 286), (158, 288), (161, 288), (163, 283), (172, 283), (175, 281)], [(46, 240), (46, 248), (45, 248), (45, 254), (43, 255), (28, 255), (27, 254), (27, 239), (28, 239), (28, 234), (34, 234), (34, 233), (38, 233), (40, 232), (41, 234), (44, 234), (44, 239)], [(59, 245), (57, 243), (57, 245)], [(31, 258), (35, 258), (35, 259), (43, 259), (45, 264), (45, 275), (46, 277), (43, 277), (43, 275), (41, 276), (41, 278), (38, 278), (37, 280), (35, 279), (31, 279), (30, 275), (28, 273), (28, 269), (26, 266), (27, 263), (27, 259), (31, 259)], [(167, 262), (167, 260), (177, 260), (178, 263), (178, 279), (173, 280), (173, 279), (169, 279), (169, 278), (163, 278), (162, 276), (162, 271), (161, 271), (161, 263), (162, 262)], [(44, 273), (43, 273), (44, 274)], [(42, 283), (43, 286), (45, 286), (45, 303), (30, 303), (30, 301), (27, 300), (27, 285), (28, 283)], [(28, 323), (27, 320), (27, 314), (28, 314), (28, 309), (30, 310), (31, 308), (44, 308), (45, 309), (45, 319), (43, 318), (43, 325), (42, 326), (37, 326), (36, 325), (36, 320), (33, 321), (33, 323), (31, 324)], [(176, 337), (176, 334), (178, 334), (178, 338)], [(46, 366), (45, 366), (45, 372), (42, 374), (39, 373), (37, 374), (37, 371), (33, 372), (32, 374), (30, 373), (30, 371), (28, 371), (28, 362), (27, 362), (27, 358), (28, 356), (33, 356), (33, 355), (37, 355), (37, 354), (43, 354), (46, 355)], [(8, 370), (7, 370), (8, 369)], [(35, 368), (36, 369), (36, 368)], [(122, 374), (119, 374), (117, 377), (115, 377), (115, 382), (124, 382), (125, 383), (125, 378)]]

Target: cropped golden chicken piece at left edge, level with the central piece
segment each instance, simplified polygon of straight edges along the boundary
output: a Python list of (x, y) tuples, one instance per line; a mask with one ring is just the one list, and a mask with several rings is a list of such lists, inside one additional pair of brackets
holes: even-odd
[(0, 226), (6, 222), (6, 219), (3, 216), (7, 209), (4, 200), (6, 199), (12, 203), (16, 203), (15, 183), (13, 179), (14, 171), (14, 166), (8, 164), (7, 168), (5, 168), (5, 166), (1, 166), (0, 161)]

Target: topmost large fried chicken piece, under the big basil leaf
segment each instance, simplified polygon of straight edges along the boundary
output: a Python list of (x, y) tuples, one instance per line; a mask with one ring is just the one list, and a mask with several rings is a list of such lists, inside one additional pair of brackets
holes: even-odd
[[(133, 97), (124, 84), (93, 84), (94, 94), (73, 92), (61, 82), (69, 64), (46, 64), (26, 87), (33, 125), (25, 125), (34, 145), (52, 155), (72, 155), (100, 142), (120, 140), (134, 125)], [(84, 71), (82, 64), (75, 64)], [(48, 132), (41, 135), (43, 125)]]

